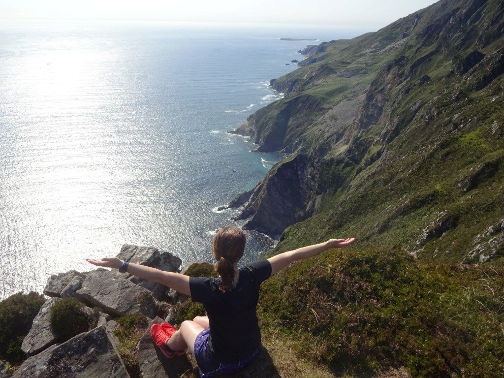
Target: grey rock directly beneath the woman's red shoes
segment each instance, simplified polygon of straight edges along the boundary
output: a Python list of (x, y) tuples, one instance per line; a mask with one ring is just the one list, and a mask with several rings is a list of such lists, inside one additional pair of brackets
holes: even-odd
[(192, 366), (185, 355), (170, 359), (163, 356), (151, 338), (150, 328), (154, 323), (161, 324), (163, 320), (156, 317), (137, 345), (137, 361), (141, 376), (143, 378), (178, 378), (187, 370), (192, 369)]

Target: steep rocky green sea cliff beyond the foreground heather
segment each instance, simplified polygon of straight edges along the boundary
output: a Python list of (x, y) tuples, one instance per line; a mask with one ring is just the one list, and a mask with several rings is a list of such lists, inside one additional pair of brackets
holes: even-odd
[(284, 231), (276, 251), (344, 232), (424, 261), (498, 259), (502, 19), (500, 1), (443, 0), (307, 46), (301, 68), (271, 81), (285, 97), (236, 131), (291, 154), (242, 208), (245, 227)]

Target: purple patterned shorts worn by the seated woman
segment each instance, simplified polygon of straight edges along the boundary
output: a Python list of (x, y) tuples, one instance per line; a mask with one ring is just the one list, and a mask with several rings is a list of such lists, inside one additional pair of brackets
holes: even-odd
[(208, 335), (210, 335), (210, 328), (205, 328), (196, 336), (196, 340), (194, 341), (194, 354), (200, 368), (200, 378), (208, 378), (215, 374), (227, 375), (235, 373), (245, 367), (259, 353), (258, 349), (248, 357), (237, 362), (216, 362), (207, 350)]

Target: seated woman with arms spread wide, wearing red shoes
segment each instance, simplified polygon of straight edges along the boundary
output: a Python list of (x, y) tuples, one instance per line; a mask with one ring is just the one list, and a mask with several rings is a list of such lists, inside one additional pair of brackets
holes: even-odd
[(237, 227), (221, 228), (214, 236), (212, 250), (219, 278), (195, 278), (164, 272), (118, 258), (86, 259), (93, 265), (127, 271), (137, 277), (160, 282), (201, 302), (207, 317), (182, 322), (176, 330), (168, 323), (154, 324), (151, 335), (163, 354), (171, 358), (189, 348), (196, 357), (203, 378), (230, 374), (249, 363), (259, 352), (261, 333), (257, 303), (261, 283), (287, 265), (319, 255), (331, 248), (350, 245), (355, 238), (330, 239), (285, 252), (268, 260), (238, 269), (245, 249), (245, 233)]

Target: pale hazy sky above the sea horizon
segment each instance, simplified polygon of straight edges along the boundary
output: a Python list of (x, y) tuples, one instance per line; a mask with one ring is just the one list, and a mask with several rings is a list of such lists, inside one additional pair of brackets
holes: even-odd
[(432, 0), (0, 0), (0, 19), (134, 19), (379, 29)]

